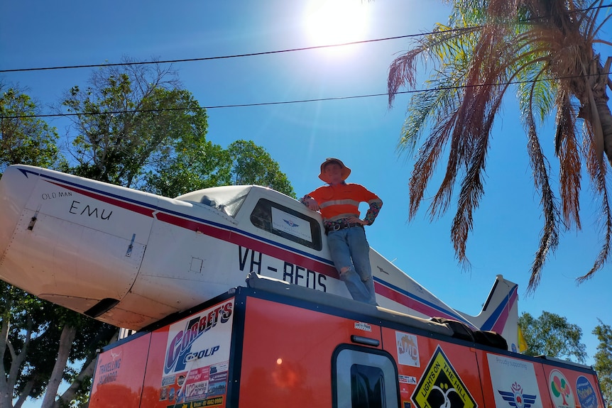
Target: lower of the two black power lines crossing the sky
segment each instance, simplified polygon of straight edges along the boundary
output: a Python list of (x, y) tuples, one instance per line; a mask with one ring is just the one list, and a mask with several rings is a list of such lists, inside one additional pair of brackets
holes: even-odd
[[(454, 87), (437, 87), (431, 89), (414, 89), (412, 91), (396, 92), (395, 94), (416, 94), (419, 92), (432, 92), (432, 91), (444, 91), (452, 89), (464, 89), (473, 87), (499, 87), (505, 85), (515, 84), (529, 84), (533, 82), (545, 82), (545, 81), (556, 81), (558, 79), (572, 79), (572, 78), (585, 78), (592, 77), (595, 75), (612, 75), (612, 72), (605, 72), (601, 74), (589, 74), (589, 75), (569, 75), (567, 77), (558, 78), (543, 78), (543, 79), (525, 79), (524, 81), (510, 81), (510, 82), (499, 82), (496, 84), (476, 84), (476, 85), (457, 85)], [(351, 97), (329, 97), (329, 98), (317, 98), (317, 99), (298, 99), (295, 101), (275, 101), (275, 102), (256, 102), (253, 104), (231, 104), (231, 105), (216, 105), (216, 106), (198, 106), (197, 109), (224, 109), (224, 108), (244, 108), (253, 106), (270, 106), (270, 105), (288, 105), (288, 104), (303, 104), (307, 102), (321, 102), (321, 101), (340, 101), (344, 99), (361, 99), (361, 98), (372, 98), (372, 97), (387, 97), (388, 93), (384, 94), (366, 94), (366, 95), (354, 95)], [(163, 111), (186, 111), (193, 109), (188, 108), (161, 108), (161, 109), (134, 109), (132, 111), (104, 111), (104, 112), (84, 112), (84, 113), (72, 113), (72, 114), (36, 114), (36, 115), (20, 115), (20, 116), (0, 116), (0, 119), (23, 119), (23, 118), (53, 118), (62, 116), (94, 116), (94, 115), (118, 115), (118, 114), (136, 114), (136, 113), (147, 113), (147, 112), (163, 112)]]

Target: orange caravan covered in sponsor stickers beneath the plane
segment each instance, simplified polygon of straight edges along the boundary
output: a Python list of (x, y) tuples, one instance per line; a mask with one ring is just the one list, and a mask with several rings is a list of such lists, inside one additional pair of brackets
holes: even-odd
[(252, 273), (99, 353), (89, 408), (603, 408), (586, 365)]

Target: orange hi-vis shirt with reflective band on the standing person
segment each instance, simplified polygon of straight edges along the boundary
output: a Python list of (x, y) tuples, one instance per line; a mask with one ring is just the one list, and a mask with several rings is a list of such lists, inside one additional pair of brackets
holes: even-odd
[(368, 203), (370, 209), (366, 215), (369, 224), (374, 222), (378, 209), (383, 202), (376, 194), (368, 191), (361, 184), (342, 183), (319, 187), (307, 194), (319, 204), (323, 221), (338, 221), (349, 216), (359, 217), (359, 203)]

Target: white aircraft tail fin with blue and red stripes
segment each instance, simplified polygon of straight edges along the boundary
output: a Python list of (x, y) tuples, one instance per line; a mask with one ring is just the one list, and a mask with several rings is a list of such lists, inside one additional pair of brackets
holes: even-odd
[(480, 330), (500, 333), (510, 350), (518, 352), (518, 285), (514, 282), (497, 275), (481, 312), (477, 316), (459, 314)]

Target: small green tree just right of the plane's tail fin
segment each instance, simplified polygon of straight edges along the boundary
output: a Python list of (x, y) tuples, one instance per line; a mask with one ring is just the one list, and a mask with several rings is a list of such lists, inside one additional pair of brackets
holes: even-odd
[(556, 358), (586, 361), (586, 346), (580, 343), (582, 329), (576, 324), (568, 323), (567, 319), (558, 314), (542, 311), (542, 315), (534, 319), (528, 313), (518, 318), (518, 325), (525, 343), (526, 355), (548, 355)]

